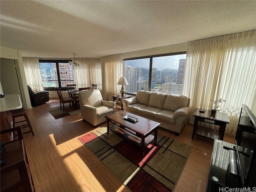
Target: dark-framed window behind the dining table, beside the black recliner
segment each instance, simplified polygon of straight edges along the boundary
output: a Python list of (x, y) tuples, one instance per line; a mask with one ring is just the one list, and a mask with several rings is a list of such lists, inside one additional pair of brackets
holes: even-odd
[(74, 83), (73, 68), (66, 60), (39, 60), (45, 90)]

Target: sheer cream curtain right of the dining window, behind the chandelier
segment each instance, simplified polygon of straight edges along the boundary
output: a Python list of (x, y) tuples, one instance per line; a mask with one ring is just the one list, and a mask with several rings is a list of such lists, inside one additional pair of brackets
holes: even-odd
[[(96, 84), (102, 89), (102, 72), (100, 58), (78, 58), (80, 66), (73, 66), (76, 88), (91, 87)], [(74, 62), (72, 60), (72, 62)]]

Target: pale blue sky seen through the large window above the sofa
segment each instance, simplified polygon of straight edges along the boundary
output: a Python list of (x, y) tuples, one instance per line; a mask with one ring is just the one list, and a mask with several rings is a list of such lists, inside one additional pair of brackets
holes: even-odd
[[(154, 57), (152, 67), (157, 68), (158, 71), (161, 71), (164, 68), (178, 69), (180, 59), (186, 59), (186, 54)], [(126, 61), (126, 66), (130, 65), (141, 68), (149, 68), (149, 62), (149, 58), (128, 60)]]

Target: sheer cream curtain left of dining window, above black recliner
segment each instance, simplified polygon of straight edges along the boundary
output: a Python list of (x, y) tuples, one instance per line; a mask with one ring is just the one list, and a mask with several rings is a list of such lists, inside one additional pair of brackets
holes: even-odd
[(35, 92), (44, 90), (38, 58), (23, 57), (24, 70), (28, 85)]

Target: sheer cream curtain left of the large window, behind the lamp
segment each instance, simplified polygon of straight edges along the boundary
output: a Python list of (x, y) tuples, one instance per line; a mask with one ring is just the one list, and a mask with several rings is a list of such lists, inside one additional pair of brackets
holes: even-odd
[(123, 75), (123, 55), (112, 55), (102, 58), (102, 96), (112, 101), (112, 96), (120, 92), (121, 86), (117, 85)]

